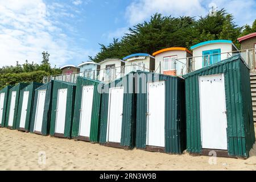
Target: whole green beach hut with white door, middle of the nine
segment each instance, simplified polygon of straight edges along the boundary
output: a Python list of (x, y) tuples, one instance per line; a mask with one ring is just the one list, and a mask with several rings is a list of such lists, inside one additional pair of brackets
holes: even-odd
[(75, 93), (76, 84), (53, 81), (49, 131), (52, 137), (71, 138)]

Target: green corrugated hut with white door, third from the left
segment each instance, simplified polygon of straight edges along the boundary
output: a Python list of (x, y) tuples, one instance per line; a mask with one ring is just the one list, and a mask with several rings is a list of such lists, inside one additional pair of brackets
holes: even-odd
[(16, 129), (27, 132), (30, 130), (30, 120), (34, 103), (35, 89), (41, 85), (43, 84), (31, 82), (30, 85), (21, 90)]

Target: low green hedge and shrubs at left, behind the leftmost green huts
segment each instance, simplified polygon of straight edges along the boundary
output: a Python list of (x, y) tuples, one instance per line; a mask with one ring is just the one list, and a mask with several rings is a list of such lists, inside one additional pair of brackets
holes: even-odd
[(16, 85), (19, 82), (42, 82), (44, 76), (61, 74), (61, 70), (56, 66), (51, 68), (49, 53), (43, 52), (42, 55), (42, 64), (28, 63), (26, 60), (23, 65), (17, 61), (15, 66), (0, 68), (0, 89), (7, 85)]

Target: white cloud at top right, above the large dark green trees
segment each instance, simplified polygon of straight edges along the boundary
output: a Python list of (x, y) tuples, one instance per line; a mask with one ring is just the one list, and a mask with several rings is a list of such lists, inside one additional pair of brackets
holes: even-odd
[(254, 0), (134, 0), (126, 8), (126, 18), (130, 25), (143, 22), (154, 13), (172, 16), (200, 16), (209, 12), (210, 3), (218, 9), (225, 8), (232, 13), (238, 25), (251, 24), (256, 17)]

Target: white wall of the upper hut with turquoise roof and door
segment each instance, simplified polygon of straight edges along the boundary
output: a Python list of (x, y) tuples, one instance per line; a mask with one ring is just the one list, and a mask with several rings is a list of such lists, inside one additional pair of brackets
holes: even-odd
[[(203, 51), (208, 51), (212, 49), (221, 49), (221, 52), (231, 52), (232, 44), (228, 43), (215, 43), (215, 44), (207, 44), (205, 46), (201, 46), (193, 49), (193, 57), (195, 57), (195, 70), (203, 68)], [(200, 56), (200, 57), (196, 57)], [(228, 53), (224, 53), (221, 55), (221, 60), (229, 58), (231, 55)]]

